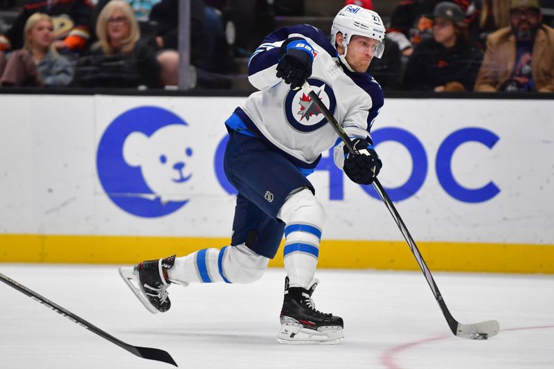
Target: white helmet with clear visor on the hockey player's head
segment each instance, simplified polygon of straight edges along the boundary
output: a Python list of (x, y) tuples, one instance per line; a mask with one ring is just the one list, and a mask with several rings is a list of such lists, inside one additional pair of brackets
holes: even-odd
[(331, 26), (331, 43), (335, 44), (337, 33), (342, 33), (345, 53), (352, 35), (369, 37), (379, 41), (375, 48), (375, 57), (382, 57), (384, 51), (385, 26), (379, 15), (373, 10), (361, 8), (357, 5), (347, 5), (342, 8), (333, 19)]

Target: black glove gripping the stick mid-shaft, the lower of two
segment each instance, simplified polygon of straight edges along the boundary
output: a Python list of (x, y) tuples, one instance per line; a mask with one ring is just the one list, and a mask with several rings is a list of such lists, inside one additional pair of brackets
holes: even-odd
[(352, 155), (345, 146), (346, 159), (344, 159), (343, 170), (353, 182), (371, 184), (379, 174), (383, 163), (368, 141), (357, 138), (353, 143), (354, 148), (361, 153)]

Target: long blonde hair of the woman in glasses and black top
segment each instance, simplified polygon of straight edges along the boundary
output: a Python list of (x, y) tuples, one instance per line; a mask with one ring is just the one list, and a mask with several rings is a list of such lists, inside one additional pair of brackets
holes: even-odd
[(121, 10), (129, 23), (129, 36), (121, 42), (121, 51), (123, 53), (129, 53), (134, 49), (136, 43), (139, 42), (139, 39), (141, 38), (141, 31), (139, 30), (139, 23), (134, 17), (133, 9), (127, 1), (111, 0), (106, 4), (98, 15), (98, 21), (96, 21), (96, 35), (98, 36), (102, 51), (107, 54), (113, 54), (115, 49), (109, 42), (107, 24), (109, 17), (111, 17), (116, 10)]

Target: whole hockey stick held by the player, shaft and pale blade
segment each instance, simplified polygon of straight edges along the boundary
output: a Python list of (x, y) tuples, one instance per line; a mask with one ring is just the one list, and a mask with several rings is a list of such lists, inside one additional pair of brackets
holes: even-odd
[[(323, 102), (319, 100), (319, 97), (316, 95), (316, 93), (312, 91), (312, 87), (310, 87), (310, 84), (305, 82), (302, 89), (305, 93), (308, 93), (310, 99), (315, 103), (316, 107), (319, 109), (319, 111), (321, 111), (323, 116), (325, 116), (325, 118), (329, 121), (334, 131), (337, 132), (341, 140), (344, 142), (344, 145), (346, 146), (350, 154), (360, 154), (359, 152), (357, 152), (357, 150), (354, 149), (352, 140), (350, 140), (350, 137), (348, 137), (346, 132), (344, 132), (343, 127), (339, 125), (339, 123), (334, 118), (334, 116), (332, 116), (327, 107), (325, 107)], [(388, 208), (388, 211), (393, 216), (396, 225), (398, 226), (398, 228), (400, 228), (400, 232), (402, 232), (404, 240), (406, 240), (406, 242), (408, 243), (408, 246), (410, 247), (410, 250), (415, 257), (415, 260), (418, 262), (423, 275), (427, 279), (427, 283), (429, 284), (429, 287), (431, 287), (431, 291), (433, 291), (438, 306), (442, 310), (448, 326), (450, 327), (450, 330), (452, 330), (452, 333), (455, 336), (462, 337), (464, 339), (488, 339), (489, 337), (496, 336), (500, 330), (500, 325), (497, 321), (492, 320), (484, 321), (481, 323), (464, 324), (459, 323), (458, 321), (456, 321), (456, 319), (454, 319), (452, 314), (450, 314), (448, 307), (446, 306), (443, 296), (438, 290), (433, 276), (431, 276), (431, 271), (429, 271), (429, 267), (427, 267), (425, 260), (423, 260), (418, 246), (415, 245), (415, 241), (411, 237), (408, 228), (406, 228), (406, 225), (402, 221), (400, 214), (398, 214), (393, 201), (391, 201), (391, 198), (388, 197), (383, 186), (377, 178), (375, 178), (375, 180), (373, 181), (373, 187), (379, 194), (379, 197), (381, 197), (381, 199), (383, 200), (386, 208)]]

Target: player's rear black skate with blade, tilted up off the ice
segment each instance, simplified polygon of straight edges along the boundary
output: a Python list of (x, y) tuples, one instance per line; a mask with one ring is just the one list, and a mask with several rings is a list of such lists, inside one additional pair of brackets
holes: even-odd
[(147, 260), (134, 268), (121, 267), (119, 274), (136, 297), (152, 314), (167, 312), (171, 307), (168, 297), (168, 269), (173, 267), (175, 255), (159, 260)]

